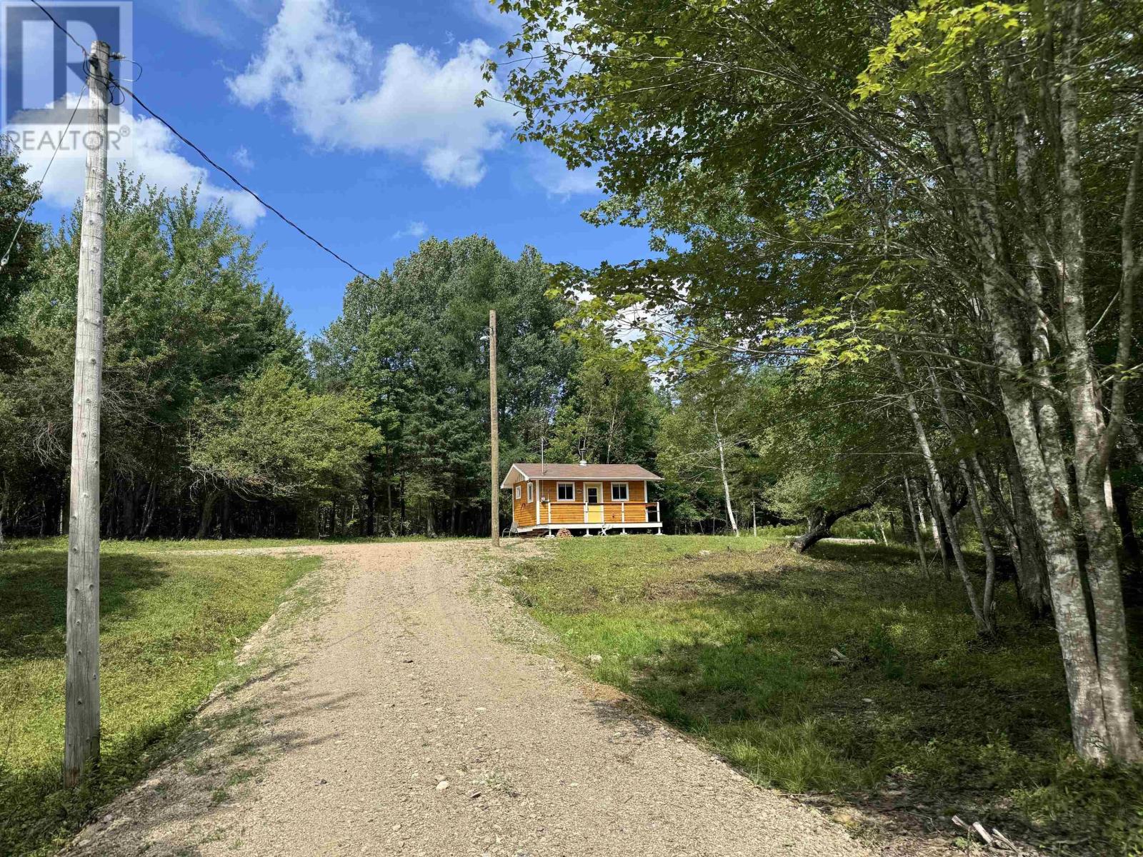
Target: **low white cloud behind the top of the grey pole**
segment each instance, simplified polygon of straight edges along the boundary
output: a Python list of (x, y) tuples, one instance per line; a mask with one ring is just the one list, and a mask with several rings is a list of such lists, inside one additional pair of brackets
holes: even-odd
[[(75, 96), (67, 96), (66, 103), (74, 105)], [(110, 146), (109, 175), (118, 174), (119, 165), (123, 163), (130, 171), (143, 176), (146, 184), (155, 185), (162, 191), (177, 193), (184, 185), (192, 189), (199, 185), (199, 198), (203, 202), (223, 202), (234, 219), (246, 227), (253, 226), (265, 214), (262, 205), (249, 194), (211, 184), (207, 168), (191, 163), (178, 154), (178, 139), (154, 119), (136, 118), (127, 111), (120, 111), (119, 122), (112, 128), (112, 133), (121, 129), (126, 129), (129, 142), (125, 142), (121, 147)], [(30, 175), (39, 178), (54, 147), (42, 143), (46, 138), (58, 141), (63, 128), (54, 125), (18, 126), (17, 131), (14, 126), (11, 130), (16, 133), (15, 142), (22, 149), (21, 160), (30, 165)], [(82, 151), (75, 151), (77, 129), (72, 128), (71, 131), (41, 189), (45, 200), (62, 208), (74, 205), (83, 193), (86, 158)], [(41, 144), (35, 145), (37, 143)]]

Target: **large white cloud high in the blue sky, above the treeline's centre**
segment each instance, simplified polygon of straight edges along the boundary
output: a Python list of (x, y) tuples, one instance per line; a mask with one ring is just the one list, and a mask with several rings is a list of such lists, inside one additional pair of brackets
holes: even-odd
[(285, 106), (318, 145), (415, 158), (435, 181), (470, 187), (514, 125), (506, 105), (473, 104), (482, 89), (501, 94), (481, 73), (491, 53), (480, 39), (447, 59), (402, 43), (376, 61), (334, 0), (283, 0), (262, 53), (227, 85), (247, 107)]

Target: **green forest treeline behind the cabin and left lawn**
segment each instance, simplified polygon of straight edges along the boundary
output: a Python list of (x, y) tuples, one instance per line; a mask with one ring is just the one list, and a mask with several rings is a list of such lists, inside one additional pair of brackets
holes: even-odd
[[(7, 243), (37, 189), (10, 149), (0, 171)], [(0, 270), (0, 538), (66, 531), (78, 218), (25, 224)], [(489, 307), (505, 471), (542, 448), (655, 467), (671, 446), (671, 397), (633, 349), (577, 325), (535, 250), (424, 241), (345, 286), (305, 341), (249, 237), (193, 189), (121, 173), (106, 232), (104, 537), (487, 534)], [(677, 428), (685, 446), (695, 426)], [(706, 451), (671, 471), (672, 529), (724, 526)]]

